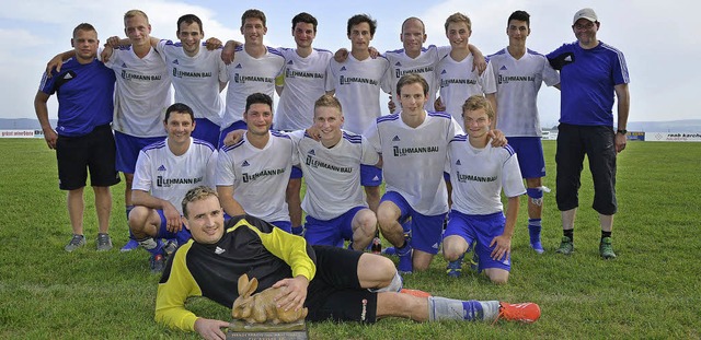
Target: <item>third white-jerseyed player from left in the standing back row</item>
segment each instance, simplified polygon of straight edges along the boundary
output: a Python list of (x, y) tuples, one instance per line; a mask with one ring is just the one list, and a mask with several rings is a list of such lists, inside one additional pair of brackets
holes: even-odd
[(245, 112), (246, 97), (254, 93), (264, 93), (271, 98), (275, 95), (275, 78), (283, 72), (285, 58), (274, 48), (263, 45), (267, 33), (265, 13), (248, 10), (241, 15), (243, 46), (235, 47), (233, 61), (227, 65), (227, 103), (221, 121), (219, 146), (223, 146), (227, 133), (245, 129), (242, 113)]

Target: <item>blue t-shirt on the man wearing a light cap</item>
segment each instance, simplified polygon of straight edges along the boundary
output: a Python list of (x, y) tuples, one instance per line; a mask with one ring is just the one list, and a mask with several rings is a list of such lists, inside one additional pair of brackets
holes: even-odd
[(575, 42), (547, 57), (560, 71), (560, 122), (613, 126), (613, 86), (630, 83), (623, 52), (602, 42), (591, 49)]

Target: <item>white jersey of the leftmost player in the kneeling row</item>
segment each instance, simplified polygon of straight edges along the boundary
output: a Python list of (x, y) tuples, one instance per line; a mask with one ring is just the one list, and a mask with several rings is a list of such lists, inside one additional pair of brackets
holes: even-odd
[(151, 196), (171, 202), (183, 214), (183, 198), (189, 189), (215, 188), (216, 164), (217, 151), (208, 142), (191, 138), (187, 151), (175, 155), (168, 148), (166, 138), (139, 152), (131, 189), (151, 192)]

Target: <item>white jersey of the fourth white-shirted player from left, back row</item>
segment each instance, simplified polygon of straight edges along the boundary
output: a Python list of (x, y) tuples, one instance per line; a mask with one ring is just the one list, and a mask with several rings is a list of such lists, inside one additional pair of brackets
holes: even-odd
[(275, 113), (275, 128), (307, 129), (314, 121), (314, 102), (326, 93), (326, 70), (333, 54), (314, 48), (302, 58), (292, 48), (279, 51), (285, 57), (285, 87)]

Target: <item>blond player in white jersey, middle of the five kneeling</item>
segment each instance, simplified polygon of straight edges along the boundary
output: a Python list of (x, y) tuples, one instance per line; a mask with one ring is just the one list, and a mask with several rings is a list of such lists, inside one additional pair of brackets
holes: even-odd
[(350, 239), (352, 248), (363, 251), (375, 236), (377, 216), (363, 198), (360, 164), (378, 165), (380, 156), (364, 137), (341, 129), (344, 117), (337, 98), (325, 94), (314, 106), (320, 140), (304, 131), (292, 133), (300, 139), (297, 152), (307, 174), (304, 238), (336, 247)]

